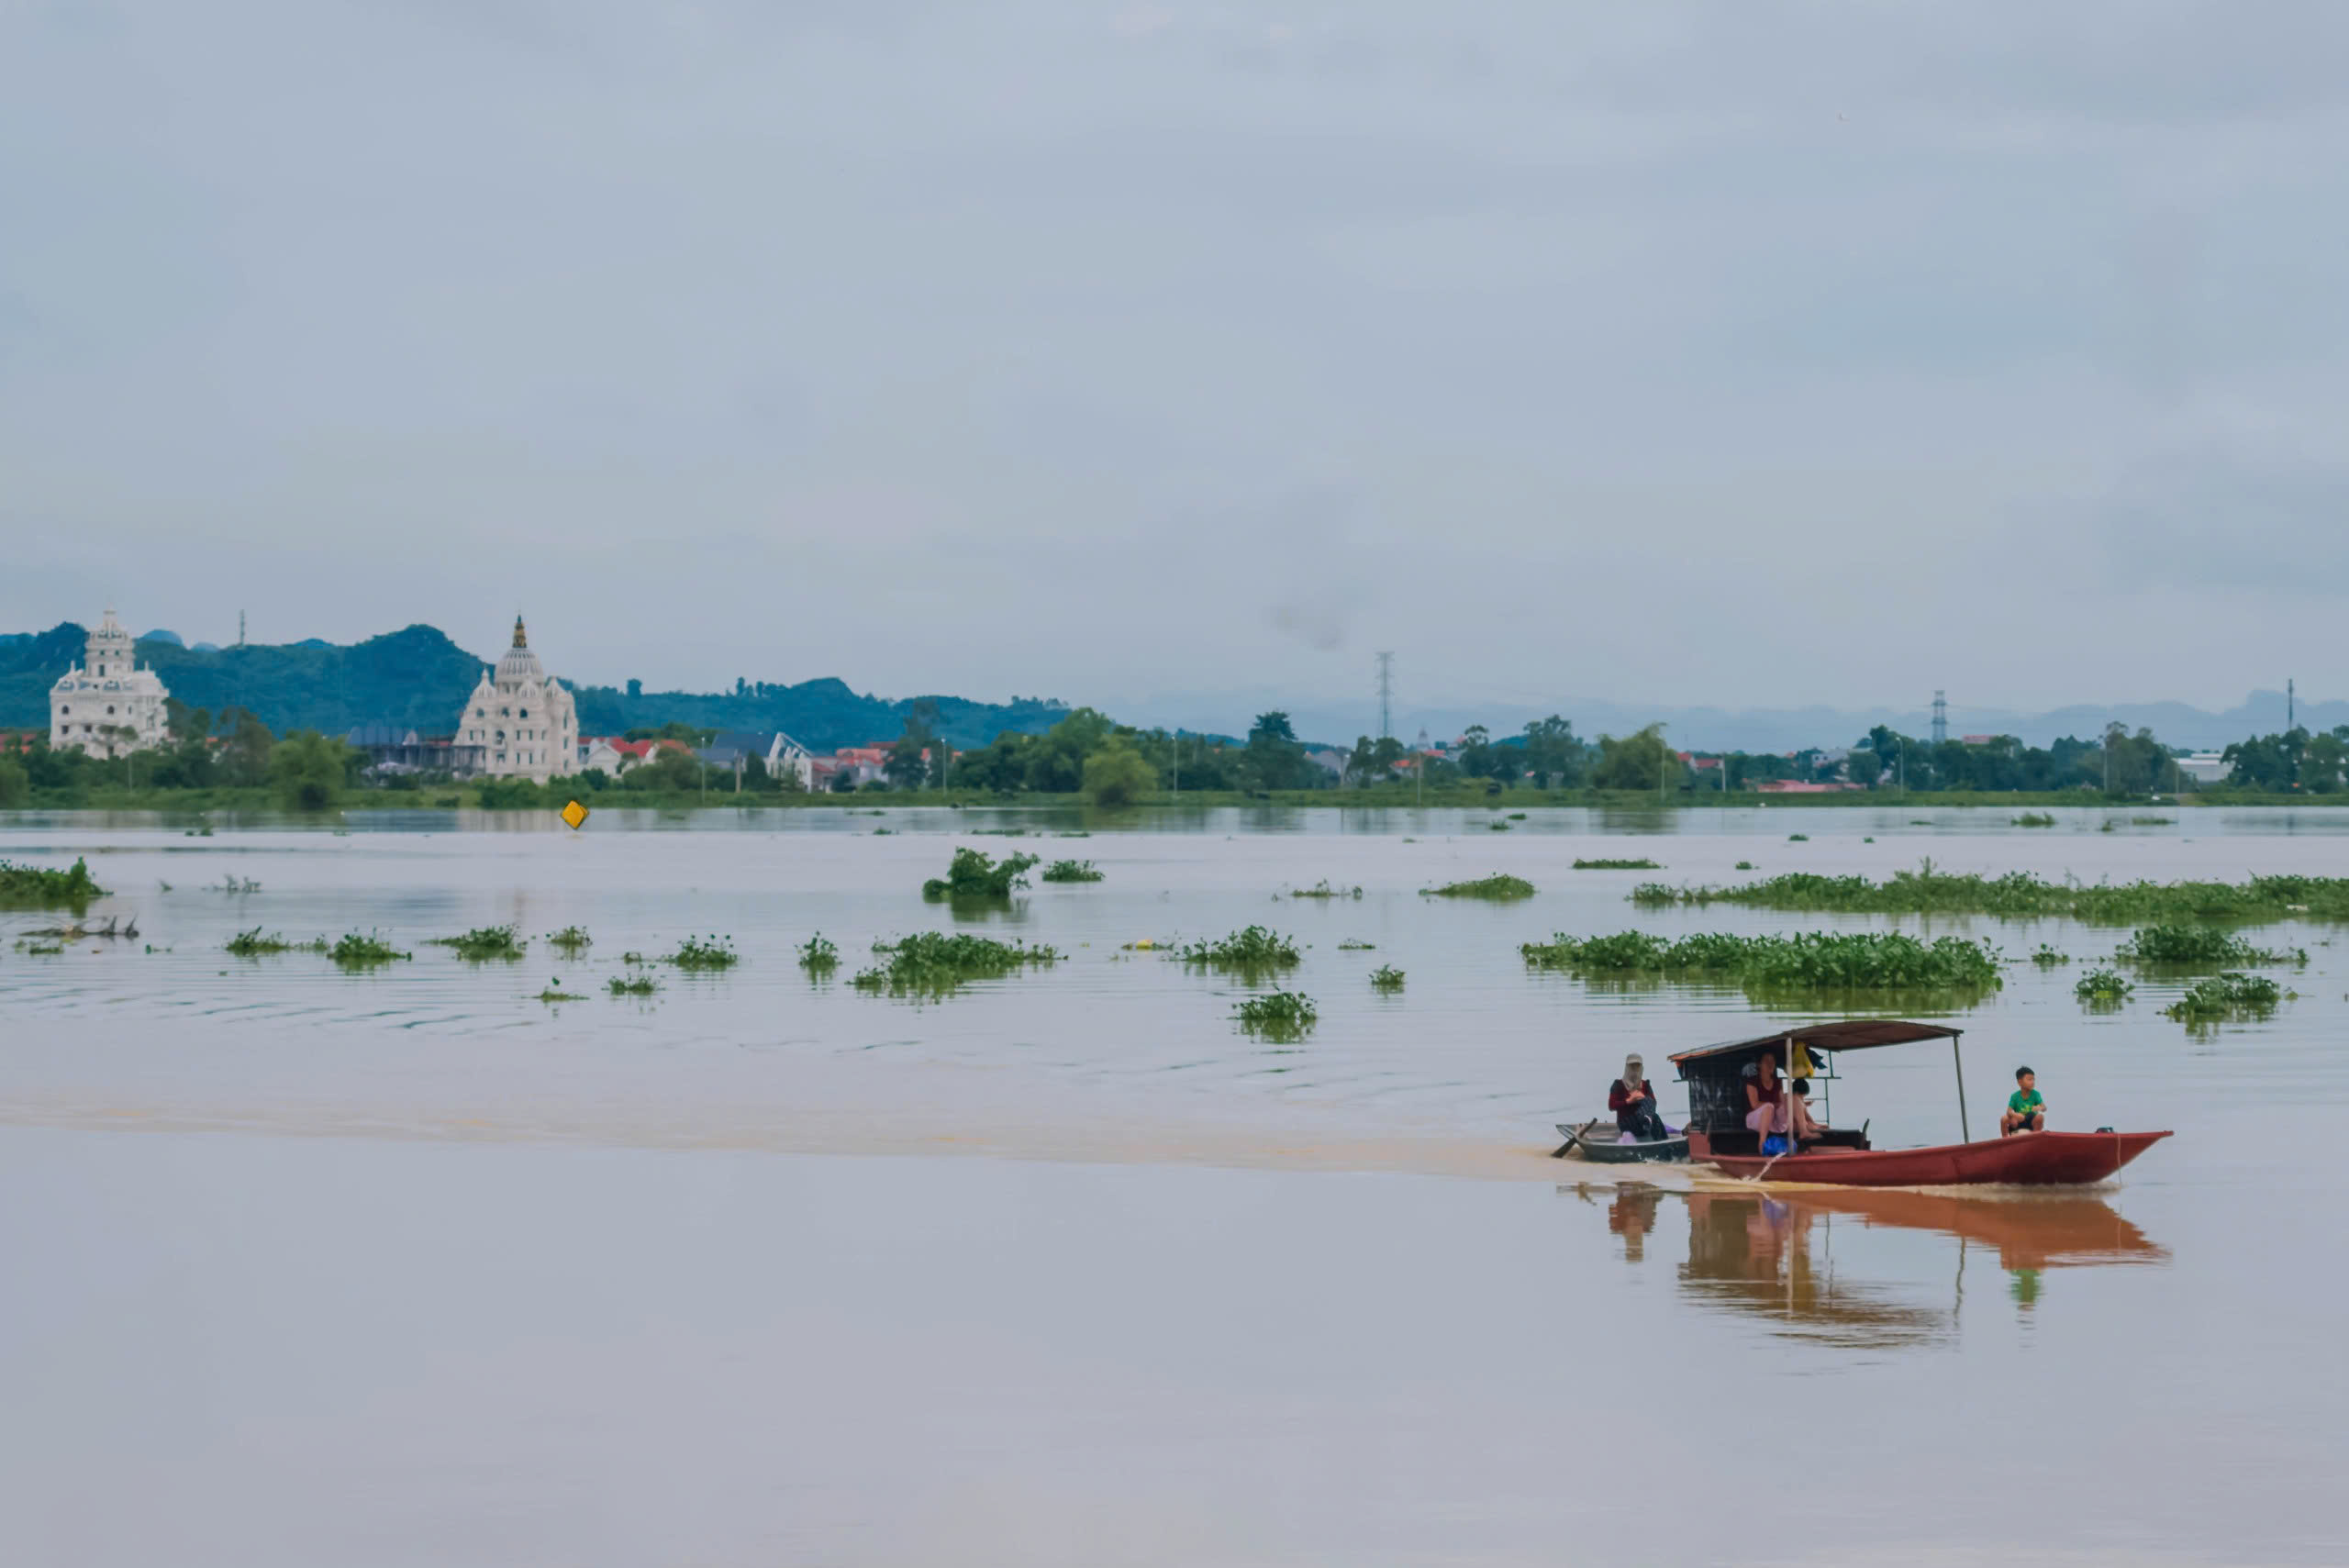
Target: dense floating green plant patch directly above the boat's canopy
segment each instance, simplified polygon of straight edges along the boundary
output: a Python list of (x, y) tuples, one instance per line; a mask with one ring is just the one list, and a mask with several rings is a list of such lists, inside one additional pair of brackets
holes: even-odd
[(1553, 937), (1520, 948), (1532, 969), (1665, 974), (1741, 981), (1757, 991), (1997, 991), (1999, 951), (1971, 937), (1921, 941), (1903, 932), (1795, 932), (1736, 937)]

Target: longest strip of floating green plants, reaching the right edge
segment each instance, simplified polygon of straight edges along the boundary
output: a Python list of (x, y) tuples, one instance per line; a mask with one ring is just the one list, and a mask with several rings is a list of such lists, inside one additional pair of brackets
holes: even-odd
[(2260, 922), (2311, 915), (2349, 920), (2349, 878), (2255, 876), (2248, 883), (2051, 883), (2030, 871), (2006, 876), (1936, 871), (1926, 859), (1882, 883), (1865, 876), (1785, 871), (1729, 887), (1642, 883), (1635, 904), (1745, 904), (1748, 908), (1832, 911), (1849, 915), (2065, 915), (2091, 925), (2152, 920)]

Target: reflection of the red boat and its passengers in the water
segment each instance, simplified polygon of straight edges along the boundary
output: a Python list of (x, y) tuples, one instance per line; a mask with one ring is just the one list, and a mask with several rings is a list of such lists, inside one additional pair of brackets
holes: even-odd
[[(1973, 1197), (1846, 1188), (1809, 1192), (1680, 1192), (1647, 1183), (1560, 1188), (1607, 1204), (1623, 1261), (1642, 1263), (1658, 1225), (1689, 1218), (1682, 1293), (1705, 1310), (1773, 1324), (1788, 1338), (1853, 1350), (1931, 1345), (1957, 1336), (1966, 1263), (1997, 1256), (2020, 1312), (2039, 1300), (2041, 1272), (2114, 1263), (2168, 1263), (2112, 1204), (2088, 1192)], [(1903, 1270), (1858, 1237), (1875, 1230), (1950, 1239), (1947, 1284)], [(1842, 1244), (1842, 1246), (1839, 1246)]]

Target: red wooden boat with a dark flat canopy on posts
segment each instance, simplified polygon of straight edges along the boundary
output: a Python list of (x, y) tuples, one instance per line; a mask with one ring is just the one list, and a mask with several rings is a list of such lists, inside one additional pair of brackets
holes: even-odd
[[(2022, 1131), (2011, 1138), (1973, 1141), (1966, 1127), (1966, 1075), (1959, 1059), (1964, 1030), (1905, 1019), (1839, 1019), (1778, 1030), (1759, 1040), (1731, 1040), (1672, 1056), (1689, 1084), (1689, 1160), (1729, 1176), (1764, 1181), (1816, 1181), (1839, 1188), (1943, 1188), (1943, 1185), (2084, 1185), (2105, 1181), (2168, 1131)], [(1957, 1122), (1964, 1143), (1938, 1148), (1875, 1148), (1867, 1127), (1823, 1129), (1785, 1155), (1764, 1155), (1745, 1127), (1745, 1075), (1764, 1052), (1776, 1056), (1788, 1080), (1832, 1080), (1835, 1056), (1879, 1045), (1947, 1040), (1959, 1068)], [(1797, 1054), (1799, 1052), (1799, 1054)], [(1804, 1073), (1802, 1068), (1809, 1068)]]

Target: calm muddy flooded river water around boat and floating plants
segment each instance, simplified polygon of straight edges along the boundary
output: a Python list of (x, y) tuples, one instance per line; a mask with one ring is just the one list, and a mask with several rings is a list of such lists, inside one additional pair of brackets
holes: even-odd
[[(1663, 1084), (1811, 1014), (1529, 974), (1520, 941), (1893, 925), (1637, 880), (2349, 876), (2349, 812), (2142, 815), (0, 817), (0, 859), (87, 854), (89, 918), (139, 922), (38, 953), (56, 915), (0, 911), (0, 1556), (2342, 1561), (2349, 932), (2269, 927), (2297, 995), (2187, 1033), (2180, 981), (2074, 1002), (2123, 930), (1903, 922), (2072, 955), (1950, 1016), (1978, 1136), (2025, 1061), (2060, 1127), (2178, 1129), (2107, 1190), (1548, 1157), (1626, 1049)], [(958, 918), (918, 897), (954, 845), (1106, 880)], [(1421, 894), (1489, 871), (1539, 892)], [(493, 922), (521, 962), (425, 946)], [(1125, 951), (1252, 922), (1308, 944), (1301, 1040)], [(251, 927), (413, 960), (228, 958)], [(935, 1005), (848, 984), (933, 927), (1062, 962)], [(695, 934), (740, 965), (606, 995)], [(1835, 1096), (1879, 1145), (1959, 1134), (1945, 1047)]]

